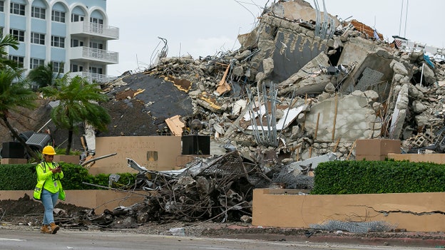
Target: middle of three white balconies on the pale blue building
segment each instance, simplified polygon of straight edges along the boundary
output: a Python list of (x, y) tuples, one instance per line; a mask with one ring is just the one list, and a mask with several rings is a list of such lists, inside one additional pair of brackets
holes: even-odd
[(99, 48), (90, 47), (72, 47), (70, 60), (78, 61), (94, 61), (96, 63), (116, 64), (119, 63), (119, 53), (113, 51), (105, 51)]

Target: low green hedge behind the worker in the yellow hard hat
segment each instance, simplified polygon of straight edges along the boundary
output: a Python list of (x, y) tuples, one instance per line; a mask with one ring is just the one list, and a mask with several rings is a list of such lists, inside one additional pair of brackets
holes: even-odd
[[(102, 189), (101, 187), (83, 184), (83, 182), (108, 187), (110, 175), (99, 174), (89, 175), (88, 170), (81, 165), (58, 162), (63, 170), (63, 179), (61, 179), (63, 189)], [(117, 174), (121, 177), (118, 182), (113, 183), (113, 187), (122, 187), (135, 182), (135, 174), (122, 173)], [(34, 189), (37, 182), (36, 164), (11, 164), (0, 165), (0, 190), (31, 190)]]

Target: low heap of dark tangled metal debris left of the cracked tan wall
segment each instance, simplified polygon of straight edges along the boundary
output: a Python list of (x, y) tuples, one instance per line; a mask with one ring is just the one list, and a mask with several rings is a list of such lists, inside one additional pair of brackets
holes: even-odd
[[(267, 187), (270, 182), (257, 165), (245, 162), (237, 151), (190, 162), (181, 170), (151, 171), (129, 158), (128, 167), (138, 170), (135, 183), (119, 190), (139, 190), (138, 194), (145, 191), (143, 202), (98, 215), (86, 211), (83, 219), (104, 227), (115, 227), (116, 223), (122, 226), (118, 222), (121, 217), (130, 227), (148, 220), (240, 220), (252, 215), (252, 189)], [(119, 177), (111, 175), (110, 179), (112, 185)]]

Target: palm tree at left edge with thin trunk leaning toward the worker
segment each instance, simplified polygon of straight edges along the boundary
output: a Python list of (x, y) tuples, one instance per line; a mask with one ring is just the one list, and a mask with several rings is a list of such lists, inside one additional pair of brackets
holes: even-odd
[(16, 110), (18, 107), (36, 108), (34, 101), (37, 95), (31, 89), (25, 87), (27, 84), (26, 80), (21, 80), (21, 71), (14, 71), (9, 67), (0, 69), (0, 118), (11, 131), (12, 136), (25, 147), (26, 152), (32, 158), (38, 160), (39, 157), (36, 152), (31, 150), (31, 147), (17, 134), (8, 120), (11, 110)]

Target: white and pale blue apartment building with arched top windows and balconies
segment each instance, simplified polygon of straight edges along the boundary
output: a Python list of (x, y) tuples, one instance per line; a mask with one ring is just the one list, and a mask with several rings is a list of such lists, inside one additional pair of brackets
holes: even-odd
[(0, 0), (0, 31), (17, 38), (7, 52), (27, 70), (52, 62), (54, 72), (102, 82), (119, 61), (108, 51), (119, 29), (108, 26), (106, 0)]

